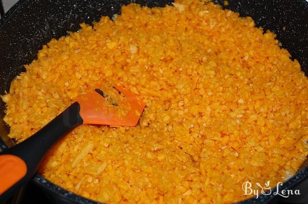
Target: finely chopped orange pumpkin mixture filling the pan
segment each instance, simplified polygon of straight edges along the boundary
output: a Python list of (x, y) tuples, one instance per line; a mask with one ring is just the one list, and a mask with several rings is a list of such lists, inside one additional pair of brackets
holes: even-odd
[(106, 203), (230, 203), (244, 181), (294, 174), (307, 156), (308, 80), (275, 34), (213, 3), (137, 4), (52, 39), (17, 76), (9, 136), (23, 141), (96, 83), (140, 95), (136, 127), (82, 125), (40, 168)]

